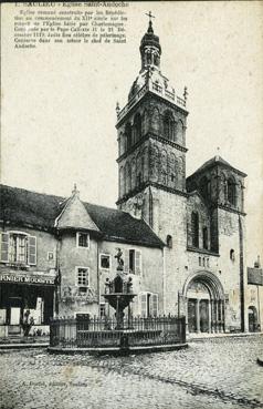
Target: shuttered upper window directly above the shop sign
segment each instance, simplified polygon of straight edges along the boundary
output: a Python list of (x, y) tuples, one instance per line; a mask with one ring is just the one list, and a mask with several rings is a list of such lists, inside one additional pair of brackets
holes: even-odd
[(23, 232), (1, 234), (1, 262), (23, 265), (36, 264), (36, 237)]

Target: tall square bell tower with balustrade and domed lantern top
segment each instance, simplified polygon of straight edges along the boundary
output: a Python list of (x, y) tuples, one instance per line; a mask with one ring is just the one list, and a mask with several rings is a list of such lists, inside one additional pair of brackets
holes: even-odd
[(122, 110), (117, 105), (117, 205), (143, 217), (166, 241), (185, 231), (187, 89), (183, 98), (177, 96), (161, 73), (161, 45), (148, 16), (141, 69), (128, 103)]

